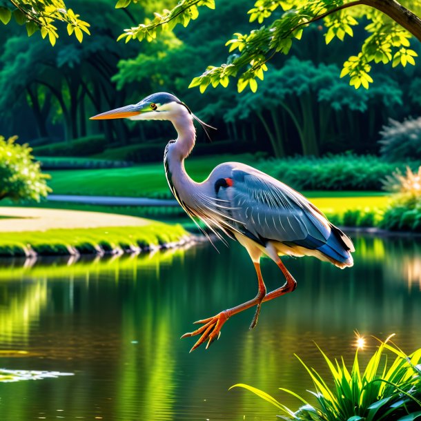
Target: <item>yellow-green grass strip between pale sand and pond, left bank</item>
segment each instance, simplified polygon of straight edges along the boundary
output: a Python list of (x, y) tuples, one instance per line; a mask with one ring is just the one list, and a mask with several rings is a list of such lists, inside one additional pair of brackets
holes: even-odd
[(187, 233), (181, 225), (150, 222), (146, 226), (112, 226), (101, 228), (51, 229), (0, 233), (1, 256), (24, 256), (30, 251), (37, 255), (68, 255), (111, 252), (116, 248), (149, 249), (180, 242)]

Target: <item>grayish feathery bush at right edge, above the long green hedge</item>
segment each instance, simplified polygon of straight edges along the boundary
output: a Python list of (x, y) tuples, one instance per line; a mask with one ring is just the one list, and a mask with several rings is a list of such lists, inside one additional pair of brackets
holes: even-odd
[(421, 117), (402, 122), (389, 119), (389, 126), (383, 126), (380, 135), (380, 153), (386, 159), (421, 159)]

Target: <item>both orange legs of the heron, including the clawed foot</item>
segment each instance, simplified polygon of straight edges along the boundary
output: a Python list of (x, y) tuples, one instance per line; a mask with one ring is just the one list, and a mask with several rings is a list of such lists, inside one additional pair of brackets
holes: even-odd
[[(219, 335), (221, 334), (222, 326), (224, 326), (224, 323), (232, 316), (240, 311), (244, 311), (246, 309), (250, 309), (253, 306), (257, 305), (255, 316), (253, 317), (253, 320), (251, 322), (250, 329), (253, 329), (253, 327), (257, 324), (257, 319), (260, 314), (260, 307), (262, 306), (263, 302), (273, 300), (273, 298), (279, 297), (280, 295), (284, 295), (286, 293), (291, 293), (294, 291), (295, 287), (297, 286), (297, 282), (295, 282), (293, 276), (291, 273), (288, 272), (282, 261), (279, 259), (279, 261), (276, 262), (277, 266), (281, 269), (282, 273), (284, 273), (284, 276), (286, 278), (286, 282), (283, 286), (280, 288), (275, 289), (271, 293), (266, 294), (266, 286), (263, 282), (262, 273), (260, 271), (260, 264), (258, 262), (255, 262), (255, 269), (257, 272), (257, 280), (259, 281), (259, 292), (257, 295), (253, 298), (253, 300), (249, 300), (245, 302), (244, 304), (240, 304), (239, 306), (235, 306), (232, 309), (224, 310), (221, 313), (218, 313), (217, 315), (213, 317), (209, 317), (208, 319), (204, 320), (198, 320), (195, 322), (195, 324), (203, 324), (203, 326), (200, 326), (199, 329), (185, 333), (182, 335), (182, 338), (184, 337), (190, 337), (195, 335), (201, 335), (199, 337), (199, 340), (193, 345), (191, 351), (194, 351), (198, 346), (202, 345), (204, 342), (208, 341), (208, 344), (206, 344), (206, 349), (208, 349), (208, 346), (212, 344), (212, 342), (216, 339), (219, 339)], [(265, 295), (266, 294), (266, 295)]]

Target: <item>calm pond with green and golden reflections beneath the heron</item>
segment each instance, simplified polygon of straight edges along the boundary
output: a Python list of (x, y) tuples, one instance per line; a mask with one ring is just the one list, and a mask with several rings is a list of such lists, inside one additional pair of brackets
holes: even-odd
[[(0, 384), (2, 421), (276, 420), (275, 407), (242, 382), (292, 409), (278, 388), (309, 395), (294, 353), (326, 373), (316, 342), (351, 363), (353, 331), (411, 353), (421, 347), (421, 240), (354, 236), (355, 266), (285, 258), (298, 282), (290, 295), (236, 315), (219, 341), (188, 353), (195, 320), (254, 297), (244, 248), (231, 242), (154, 255), (0, 262), (0, 367), (70, 376)], [(265, 260), (268, 288), (282, 273)], [(371, 346), (361, 351), (371, 354)]]

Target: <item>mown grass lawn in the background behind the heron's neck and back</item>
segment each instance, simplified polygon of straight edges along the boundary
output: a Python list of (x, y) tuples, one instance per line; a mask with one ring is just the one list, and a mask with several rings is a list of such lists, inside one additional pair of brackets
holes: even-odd
[[(226, 161), (240, 161), (258, 167), (253, 155), (242, 154), (187, 159), (186, 170), (193, 179), (201, 182), (217, 164)], [(49, 173), (52, 175), (49, 184), (53, 193), (57, 195), (172, 197), (161, 163), (130, 168), (52, 170)], [(304, 191), (302, 193), (324, 212), (342, 213), (353, 208), (384, 208), (389, 200), (389, 195), (381, 192)], [(59, 207), (64, 206), (59, 205)], [(71, 205), (70, 208), (75, 207)], [(128, 215), (133, 214), (133, 208), (128, 211), (130, 212)], [(139, 215), (139, 212), (135, 215)]]

